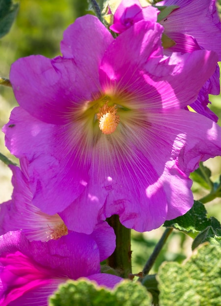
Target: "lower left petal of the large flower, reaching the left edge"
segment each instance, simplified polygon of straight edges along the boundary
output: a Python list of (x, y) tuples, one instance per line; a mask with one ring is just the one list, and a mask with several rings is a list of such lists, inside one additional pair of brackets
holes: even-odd
[(89, 156), (79, 152), (82, 134), (71, 128), (44, 123), (21, 107), (3, 128), (10, 152), (29, 162), (33, 204), (50, 215), (68, 207), (88, 181)]

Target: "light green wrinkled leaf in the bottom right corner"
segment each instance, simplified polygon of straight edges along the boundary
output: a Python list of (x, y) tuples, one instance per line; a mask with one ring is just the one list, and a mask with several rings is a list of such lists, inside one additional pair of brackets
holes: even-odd
[(220, 306), (221, 248), (204, 244), (182, 265), (162, 264), (158, 282), (162, 306)]

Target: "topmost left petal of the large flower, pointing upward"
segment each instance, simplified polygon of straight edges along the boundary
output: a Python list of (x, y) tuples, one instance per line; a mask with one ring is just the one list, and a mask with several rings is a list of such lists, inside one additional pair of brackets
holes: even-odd
[[(86, 15), (77, 18), (64, 31), (61, 52), (64, 58), (73, 59), (75, 65), (80, 66), (93, 83), (98, 77), (96, 71), (98, 71), (101, 57), (113, 41), (113, 36), (98, 18)], [(89, 61), (92, 57), (93, 60)]]

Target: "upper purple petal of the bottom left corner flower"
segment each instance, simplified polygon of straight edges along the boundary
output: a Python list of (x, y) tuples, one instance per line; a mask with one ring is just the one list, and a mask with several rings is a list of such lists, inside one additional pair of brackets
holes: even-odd
[(75, 280), (100, 271), (97, 243), (85, 234), (70, 233), (47, 242), (30, 242), (20, 231), (0, 236), (1, 257), (16, 252), (21, 252), (30, 262), (36, 262), (35, 269), (42, 276), (69, 277)]

